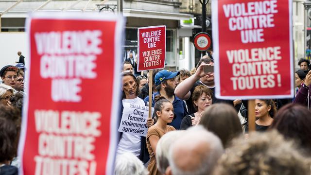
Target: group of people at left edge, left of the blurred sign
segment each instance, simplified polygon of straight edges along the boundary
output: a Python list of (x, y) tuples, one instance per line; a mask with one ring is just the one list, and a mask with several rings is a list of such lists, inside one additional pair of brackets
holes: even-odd
[(18, 175), (17, 146), (21, 128), (24, 92), (24, 56), (17, 53), (17, 65), (0, 70), (0, 175)]

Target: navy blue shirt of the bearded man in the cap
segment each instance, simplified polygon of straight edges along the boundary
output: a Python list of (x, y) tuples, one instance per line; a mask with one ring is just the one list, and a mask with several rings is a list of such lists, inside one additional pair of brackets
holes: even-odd
[[(152, 107), (155, 106), (155, 96), (160, 95), (159, 92), (156, 92), (152, 94)], [(173, 126), (175, 129), (180, 128), (181, 121), (183, 118), (188, 115), (186, 105), (183, 100), (179, 99), (178, 97), (174, 96), (175, 99), (173, 101), (173, 108), (174, 108), (174, 116), (175, 118), (173, 119), (172, 123), (168, 123), (168, 125)], [(147, 96), (144, 101), (149, 102), (149, 96)]]

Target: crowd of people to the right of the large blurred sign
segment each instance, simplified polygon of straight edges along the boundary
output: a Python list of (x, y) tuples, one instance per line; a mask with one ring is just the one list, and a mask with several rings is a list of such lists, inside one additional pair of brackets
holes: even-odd
[(204, 71), (214, 65), (208, 55), (192, 73), (154, 70), (151, 99), (151, 76), (135, 76), (130, 63), (123, 64), (122, 103), (151, 100), (155, 110), (146, 137), (127, 145), (121, 137), (116, 175), (311, 174), (309, 60), (298, 63), (294, 98), (255, 99), (257, 132), (248, 130), (247, 100), (215, 97), (214, 73)]

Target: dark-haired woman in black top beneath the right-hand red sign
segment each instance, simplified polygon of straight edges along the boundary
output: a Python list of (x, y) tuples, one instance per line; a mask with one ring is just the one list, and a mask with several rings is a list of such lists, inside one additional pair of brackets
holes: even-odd
[[(265, 131), (273, 122), (273, 117), (276, 114), (276, 105), (273, 100), (255, 100), (255, 117), (256, 131)], [(248, 124), (245, 127), (245, 132), (248, 132)]]

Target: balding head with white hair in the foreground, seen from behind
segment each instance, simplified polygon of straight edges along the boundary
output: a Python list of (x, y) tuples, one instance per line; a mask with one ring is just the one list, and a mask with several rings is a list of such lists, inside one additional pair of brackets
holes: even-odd
[(173, 175), (208, 175), (223, 154), (221, 140), (201, 126), (187, 130), (170, 148)]

